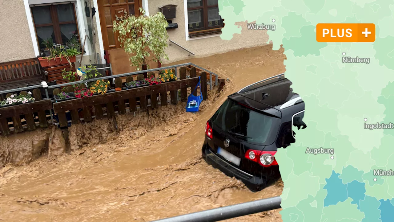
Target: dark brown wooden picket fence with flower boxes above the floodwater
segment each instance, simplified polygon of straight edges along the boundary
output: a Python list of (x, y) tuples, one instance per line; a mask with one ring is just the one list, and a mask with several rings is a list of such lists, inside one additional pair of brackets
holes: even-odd
[[(149, 73), (149, 75), (152, 74), (154, 75), (154, 73)], [(128, 76), (126, 82), (132, 80), (133, 77)], [(40, 90), (34, 89), (32, 96), (36, 99), (35, 102), (0, 108), (0, 130), (2, 135), (9, 135), (11, 133), (10, 128), (13, 128), (15, 132), (23, 132), (24, 130), (33, 130), (36, 127), (46, 128), (52, 124), (57, 124), (48, 121), (51, 119), (50, 110), (52, 111), (53, 119), (58, 122), (59, 126), (67, 128), (70, 125), (69, 122), (71, 124), (79, 124), (81, 120), (90, 122), (94, 118), (102, 119), (105, 115), (113, 117), (115, 113), (125, 114), (127, 109), (130, 112), (137, 111), (137, 108), (139, 110), (147, 110), (149, 104), (149, 109), (155, 109), (159, 103), (163, 106), (167, 105), (168, 102), (172, 104), (177, 104), (179, 101), (186, 102), (188, 97), (187, 89), (190, 87), (192, 92), (198, 81), (199, 77), (194, 67), (190, 69), (190, 78), (186, 78), (186, 67), (180, 67), (179, 80), (177, 81), (124, 89), (124, 83), (118, 77), (115, 78), (114, 87), (123, 88), (120, 91), (62, 102), (52, 102), (49, 99), (42, 100)], [(85, 85), (79, 86), (79, 88), (81, 87), (85, 87)], [(178, 90), (180, 91), (179, 101)], [(206, 100), (207, 79), (205, 72), (201, 73), (200, 91), (204, 100)], [(54, 90), (54, 94), (58, 92), (60, 92), (60, 89)], [(74, 92), (74, 88), (72, 86), (67, 87), (67, 92)], [(167, 98), (167, 92), (170, 92), (170, 100)], [(27, 94), (27, 92), (22, 91), (20, 94)], [(197, 95), (197, 91), (194, 94)]]

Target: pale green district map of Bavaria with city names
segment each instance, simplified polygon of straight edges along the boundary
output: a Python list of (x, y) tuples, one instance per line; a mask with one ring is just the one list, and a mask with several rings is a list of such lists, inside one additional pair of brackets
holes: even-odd
[[(393, 0), (219, 0), (221, 39), (242, 33), (239, 22), (275, 24), (286, 78), (305, 102), (307, 128), (275, 155), (284, 181), (284, 222), (394, 221)], [(371, 43), (316, 41), (318, 23), (374, 23)], [(345, 63), (343, 56), (369, 58)], [(306, 149), (334, 149), (331, 154)], [(382, 173), (383, 172), (383, 173)], [(386, 174), (384, 173), (386, 172)], [(394, 173), (393, 173), (394, 174)]]

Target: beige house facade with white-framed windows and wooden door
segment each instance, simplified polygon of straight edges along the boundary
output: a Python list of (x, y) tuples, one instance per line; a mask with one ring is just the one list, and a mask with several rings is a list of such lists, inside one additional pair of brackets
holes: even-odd
[[(217, 0), (2, 0), (1, 4), (0, 63), (42, 56), (43, 40), (51, 38), (61, 44), (76, 35), (84, 48), (77, 62), (106, 63), (108, 52), (121, 48), (112, 32), (119, 11), (125, 9), (139, 15), (138, 9), (143, 8), (146, 15), (152, 15), (166, 5), (176, 6), (175, 18), (170, 22), (174, 26), (176, 23), (177, 28), (167, 29), (171, 41), (166, 49), (169, 61), (163, 61), (164, 64), (256, 47), (268, 41), (265, 31), (247, 30), (246, 23), (238, 24), (242, 34), (234, 34), (229, 41), (221, 40), (225, 24)], [(11, 12), (10, 20), (6, 15)]]

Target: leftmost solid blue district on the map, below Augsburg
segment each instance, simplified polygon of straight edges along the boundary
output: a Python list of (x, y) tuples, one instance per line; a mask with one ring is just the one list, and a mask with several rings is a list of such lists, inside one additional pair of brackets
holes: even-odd
[[(336, 205), (338, 202), (343, 202), (348, 199), (348, 186), (347, 184), (342, 183), (342, 179), (339, 179), (339, 173), (331, 174), (331, 177), (325, 179), (325, 186), (323, 189), (327, 190), (327, 197), (324, 199), (324, 207), (328, 207), (329, 205)], [(364, 191), (365, 192), (365, 191)]]

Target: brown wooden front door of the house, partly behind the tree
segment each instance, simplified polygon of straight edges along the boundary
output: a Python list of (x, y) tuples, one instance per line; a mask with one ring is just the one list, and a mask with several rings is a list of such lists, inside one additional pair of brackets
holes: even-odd
[(104, 50), (121, 48), (118, 36), (112, 30), (115, 15), (123, 15), (123, 10), (128, 15), (140, 15), (142, 0), (98, 0), (98, 4)]

